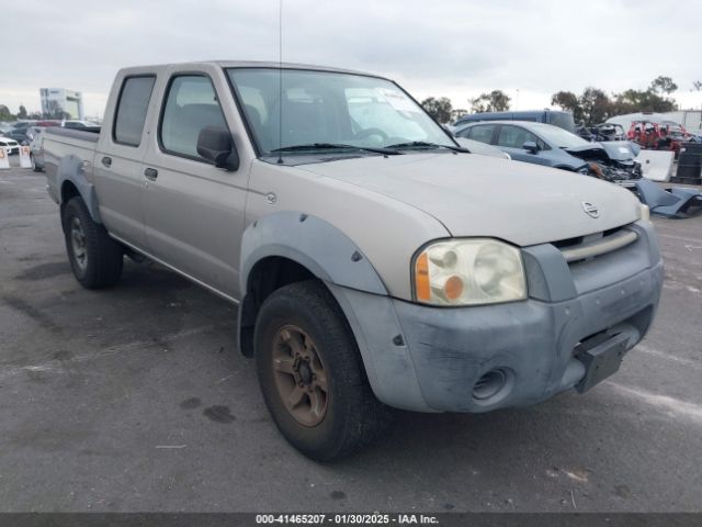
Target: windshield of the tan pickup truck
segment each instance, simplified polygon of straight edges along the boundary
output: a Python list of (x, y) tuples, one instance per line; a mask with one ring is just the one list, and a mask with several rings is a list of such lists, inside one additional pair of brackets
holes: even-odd
[[(294, 146), (384, 148), (406, 143), (455, 147), (448, 134), (388, 80), (329, 71), (227, 70), (261, 155)], [(309, 150), (301, 150), (309, 154)], [(338, 154), (338, 153), (336, 153)]]

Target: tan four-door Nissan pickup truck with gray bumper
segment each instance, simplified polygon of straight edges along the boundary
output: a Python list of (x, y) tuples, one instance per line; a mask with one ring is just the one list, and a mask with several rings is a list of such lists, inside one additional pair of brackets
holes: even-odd
[(631, 192), (469, 154), (376, 75), (126, 68), (99, 131), (44, 133), (76, 279), (114, 285), (138, 255), (238, 304), (272, 418), (313, 459), (371, 442), (387, 406), (587, 391), (658, 304), (656, 236)]

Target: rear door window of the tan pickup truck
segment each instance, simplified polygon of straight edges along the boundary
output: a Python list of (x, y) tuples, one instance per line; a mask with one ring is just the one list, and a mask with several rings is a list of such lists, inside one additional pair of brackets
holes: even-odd
[(139, 146), (146, 122), (155, 76), (127, 77), (122, 85), (114, 119), (113, 139), (127, 146)]

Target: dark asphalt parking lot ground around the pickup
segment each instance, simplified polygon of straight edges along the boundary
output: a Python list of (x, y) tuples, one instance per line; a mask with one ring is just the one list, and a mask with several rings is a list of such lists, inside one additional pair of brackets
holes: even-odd
[(398, 412), (332, 464), (275, 429), (236, 307), (155, 265), (87, 291), (58, 209), (0, 172), (1, 511), (701, 511), (702, 216), (654, 221), (655, 326), (592, 391), (484, 415)]

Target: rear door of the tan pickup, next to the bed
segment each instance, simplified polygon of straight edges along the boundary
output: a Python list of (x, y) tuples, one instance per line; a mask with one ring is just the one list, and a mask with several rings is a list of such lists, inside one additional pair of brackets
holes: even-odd
[(141, 159), (146, 153), (146, 122), (156, 74), (117, 78), (100, 133), (93, 160), (100, 215), (111, 234), (139, 249), (146, 248), (144, 232)]

